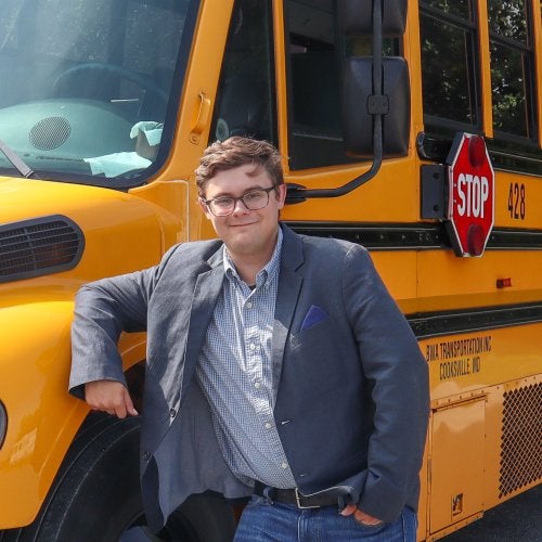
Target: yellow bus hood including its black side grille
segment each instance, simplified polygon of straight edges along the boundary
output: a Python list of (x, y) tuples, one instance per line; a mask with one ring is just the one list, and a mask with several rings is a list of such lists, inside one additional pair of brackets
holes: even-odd
[(153, 266), (175, 227), (158, 205), (95, 186), (0, 177), (0, 201), (3, 300), (14, 287), (72, 297), (83, 282)]

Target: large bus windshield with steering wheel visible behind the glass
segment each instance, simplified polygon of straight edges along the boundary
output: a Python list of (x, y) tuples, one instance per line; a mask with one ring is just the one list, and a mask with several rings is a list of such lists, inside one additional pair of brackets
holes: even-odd
[[(0, 140), (40, 178), (143, 182), (167, 156), (196, 3), (2, 0)], [(0, 175), (17, 175), (3, 153)]]

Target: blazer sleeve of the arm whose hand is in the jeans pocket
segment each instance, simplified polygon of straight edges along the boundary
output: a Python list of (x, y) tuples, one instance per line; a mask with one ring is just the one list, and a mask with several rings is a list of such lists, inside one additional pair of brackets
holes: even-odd
[(391, 521), (420, 487), (429, 413), (428, 367), (409, 323), (359, 245), (346, 255), (343, 293), (374, 404), (358, 506)]

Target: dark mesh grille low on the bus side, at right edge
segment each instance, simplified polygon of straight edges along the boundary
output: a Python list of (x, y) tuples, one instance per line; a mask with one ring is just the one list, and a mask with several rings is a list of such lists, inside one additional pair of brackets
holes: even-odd
[(500, 498), (542, 478), (542, 383), (504, 393)]

